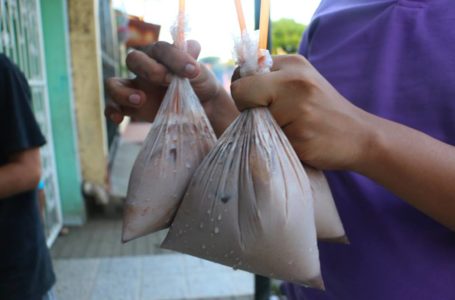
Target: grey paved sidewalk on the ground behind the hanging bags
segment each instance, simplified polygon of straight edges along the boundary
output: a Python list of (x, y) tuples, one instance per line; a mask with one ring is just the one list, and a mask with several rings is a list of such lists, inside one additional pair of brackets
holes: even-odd
[[(118, 200), (113, 207), (126, 196), (149, 126), (130, 124), (118, 142), (110, 174), (111, 198)], [(92, 217), (57, 238), (52, 257), (58, 299), (253, 299), (252, 274), (160, 249), (166, 231), (122, 244), (121, 211), (109, 215)]]

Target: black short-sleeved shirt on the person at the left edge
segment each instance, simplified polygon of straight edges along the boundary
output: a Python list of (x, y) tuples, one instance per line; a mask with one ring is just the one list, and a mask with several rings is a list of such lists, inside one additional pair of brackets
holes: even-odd
[[(0, 53), (0, 166), (43, 144), (27, 80)], [(36, 190), (0, 199), (0, 300), (41, 300), (54, 282)]]

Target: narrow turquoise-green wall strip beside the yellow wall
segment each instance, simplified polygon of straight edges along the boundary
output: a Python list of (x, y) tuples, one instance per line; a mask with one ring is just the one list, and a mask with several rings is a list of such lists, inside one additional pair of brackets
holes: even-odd
[(69, 61), (66, 0), (41, 0), (47, 83), (63, 223), (85, 222)]

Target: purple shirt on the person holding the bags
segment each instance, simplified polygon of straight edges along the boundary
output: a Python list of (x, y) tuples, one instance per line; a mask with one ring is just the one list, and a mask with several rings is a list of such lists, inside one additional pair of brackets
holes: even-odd
[[(322, 0), (300, 50), (355, 105), (455, 144), (454, 0)], [(455, 233), (363, 176), (327, 175), (351, 244), (320, 243), (326, 292), (285, 284), (290, 299), (455, 299)]]

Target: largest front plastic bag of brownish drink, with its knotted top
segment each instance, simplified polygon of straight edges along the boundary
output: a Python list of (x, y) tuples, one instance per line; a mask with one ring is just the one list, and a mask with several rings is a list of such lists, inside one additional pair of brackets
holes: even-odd
[[(257, 43), (242, 42), (242, 76), (267, 72), (268, 53), (258, 66)], [(295, 151), (268, 109), (256, 108), (201, 163), (162, 247), (323, 289), (314, 217)]]

